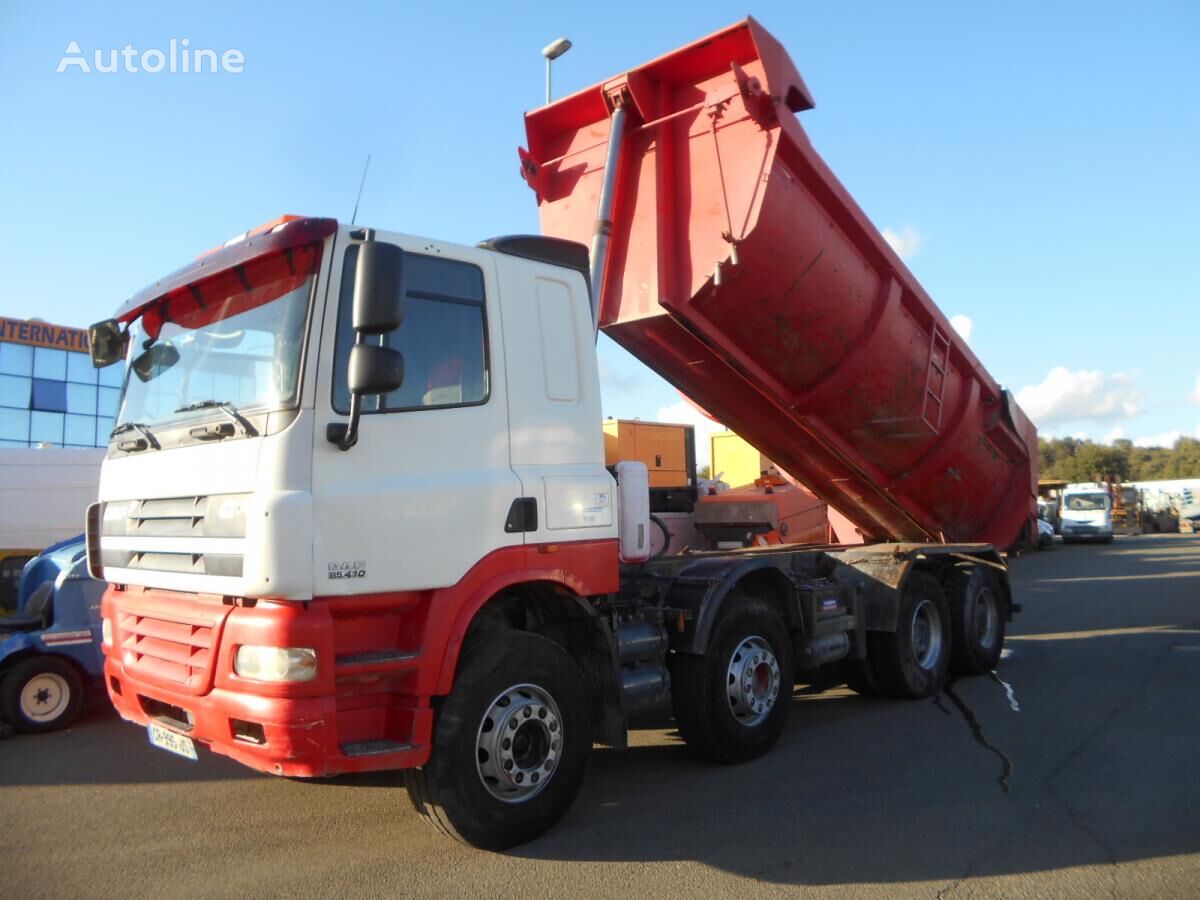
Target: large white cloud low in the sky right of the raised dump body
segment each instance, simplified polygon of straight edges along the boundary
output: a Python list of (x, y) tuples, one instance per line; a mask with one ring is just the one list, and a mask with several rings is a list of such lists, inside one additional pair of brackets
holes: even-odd
[(1021, 388), (1016, 402), (1042, 428), (1094, 419), (1129, 419), (1141, 412), (1141, 391), (1134, 376), (1076, 370), (1050, 370), (1042, 384)]

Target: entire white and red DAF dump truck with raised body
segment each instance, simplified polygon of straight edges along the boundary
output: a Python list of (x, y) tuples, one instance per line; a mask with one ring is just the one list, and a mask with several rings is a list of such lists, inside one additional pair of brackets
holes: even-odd
[[(541, 235), (292, 217), (92, 326), (127, 367), (88, 512), (118, 712), (191, 758), (403, 770), (426, 821), (502, 848), (648, 710), (737, 763), (821, 667), (899, 698), (992, 670), (1036, 434), (811, 106), (748, 19), (527, 114)], [(872, 542), (652, 559), (598, 328)]]

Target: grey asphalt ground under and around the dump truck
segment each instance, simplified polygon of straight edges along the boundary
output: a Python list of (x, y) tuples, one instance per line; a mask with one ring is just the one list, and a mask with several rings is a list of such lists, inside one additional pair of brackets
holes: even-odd
[(670, 727), (593, 754), (568, 818), (484, 853), (395, 776), (258, 775), (96, 704), (0, 742), (0, 896), (1200, 896), (1200, 535), (1013, 560), (998, 678), (799, 689), (767, 757)]

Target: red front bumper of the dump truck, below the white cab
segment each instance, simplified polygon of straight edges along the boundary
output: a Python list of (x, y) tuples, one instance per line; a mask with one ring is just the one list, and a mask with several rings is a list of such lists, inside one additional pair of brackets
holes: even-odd
[[(330, 613), (318, 604), (221, 610), (204, 598), (161, 592), (114, 598), (109, 589), (103, 614), (115, 623), (114, 646), (104, 648), (106, 686), (131, 722), (156, 722), (275, 775), (403, 769), (428, 760), (433, 712), (427, 698), (412, 692), (418, 660), (353, 665), (353, 658), (338, 655)], [(170, 629), (202, 619), (211, 629), (191, 640), (208, 643), (208, 653), (187, 648), (186, 661), (173, 662), (184, 654)], [(199, 631), (193, 625), (190, 634)], [(233, 656), (241, 643), (317, 647), (318, 679), (239, 678)]]

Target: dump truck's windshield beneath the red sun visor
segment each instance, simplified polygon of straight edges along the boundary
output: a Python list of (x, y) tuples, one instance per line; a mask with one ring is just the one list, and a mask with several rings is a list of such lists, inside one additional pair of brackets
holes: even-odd
[(283, 268), (282, 259), (217, 272), (132, 323), (118, 428), (211, 415), (221, 406), (245, 413), (298, 401), (319, 250), (289, 253)]

